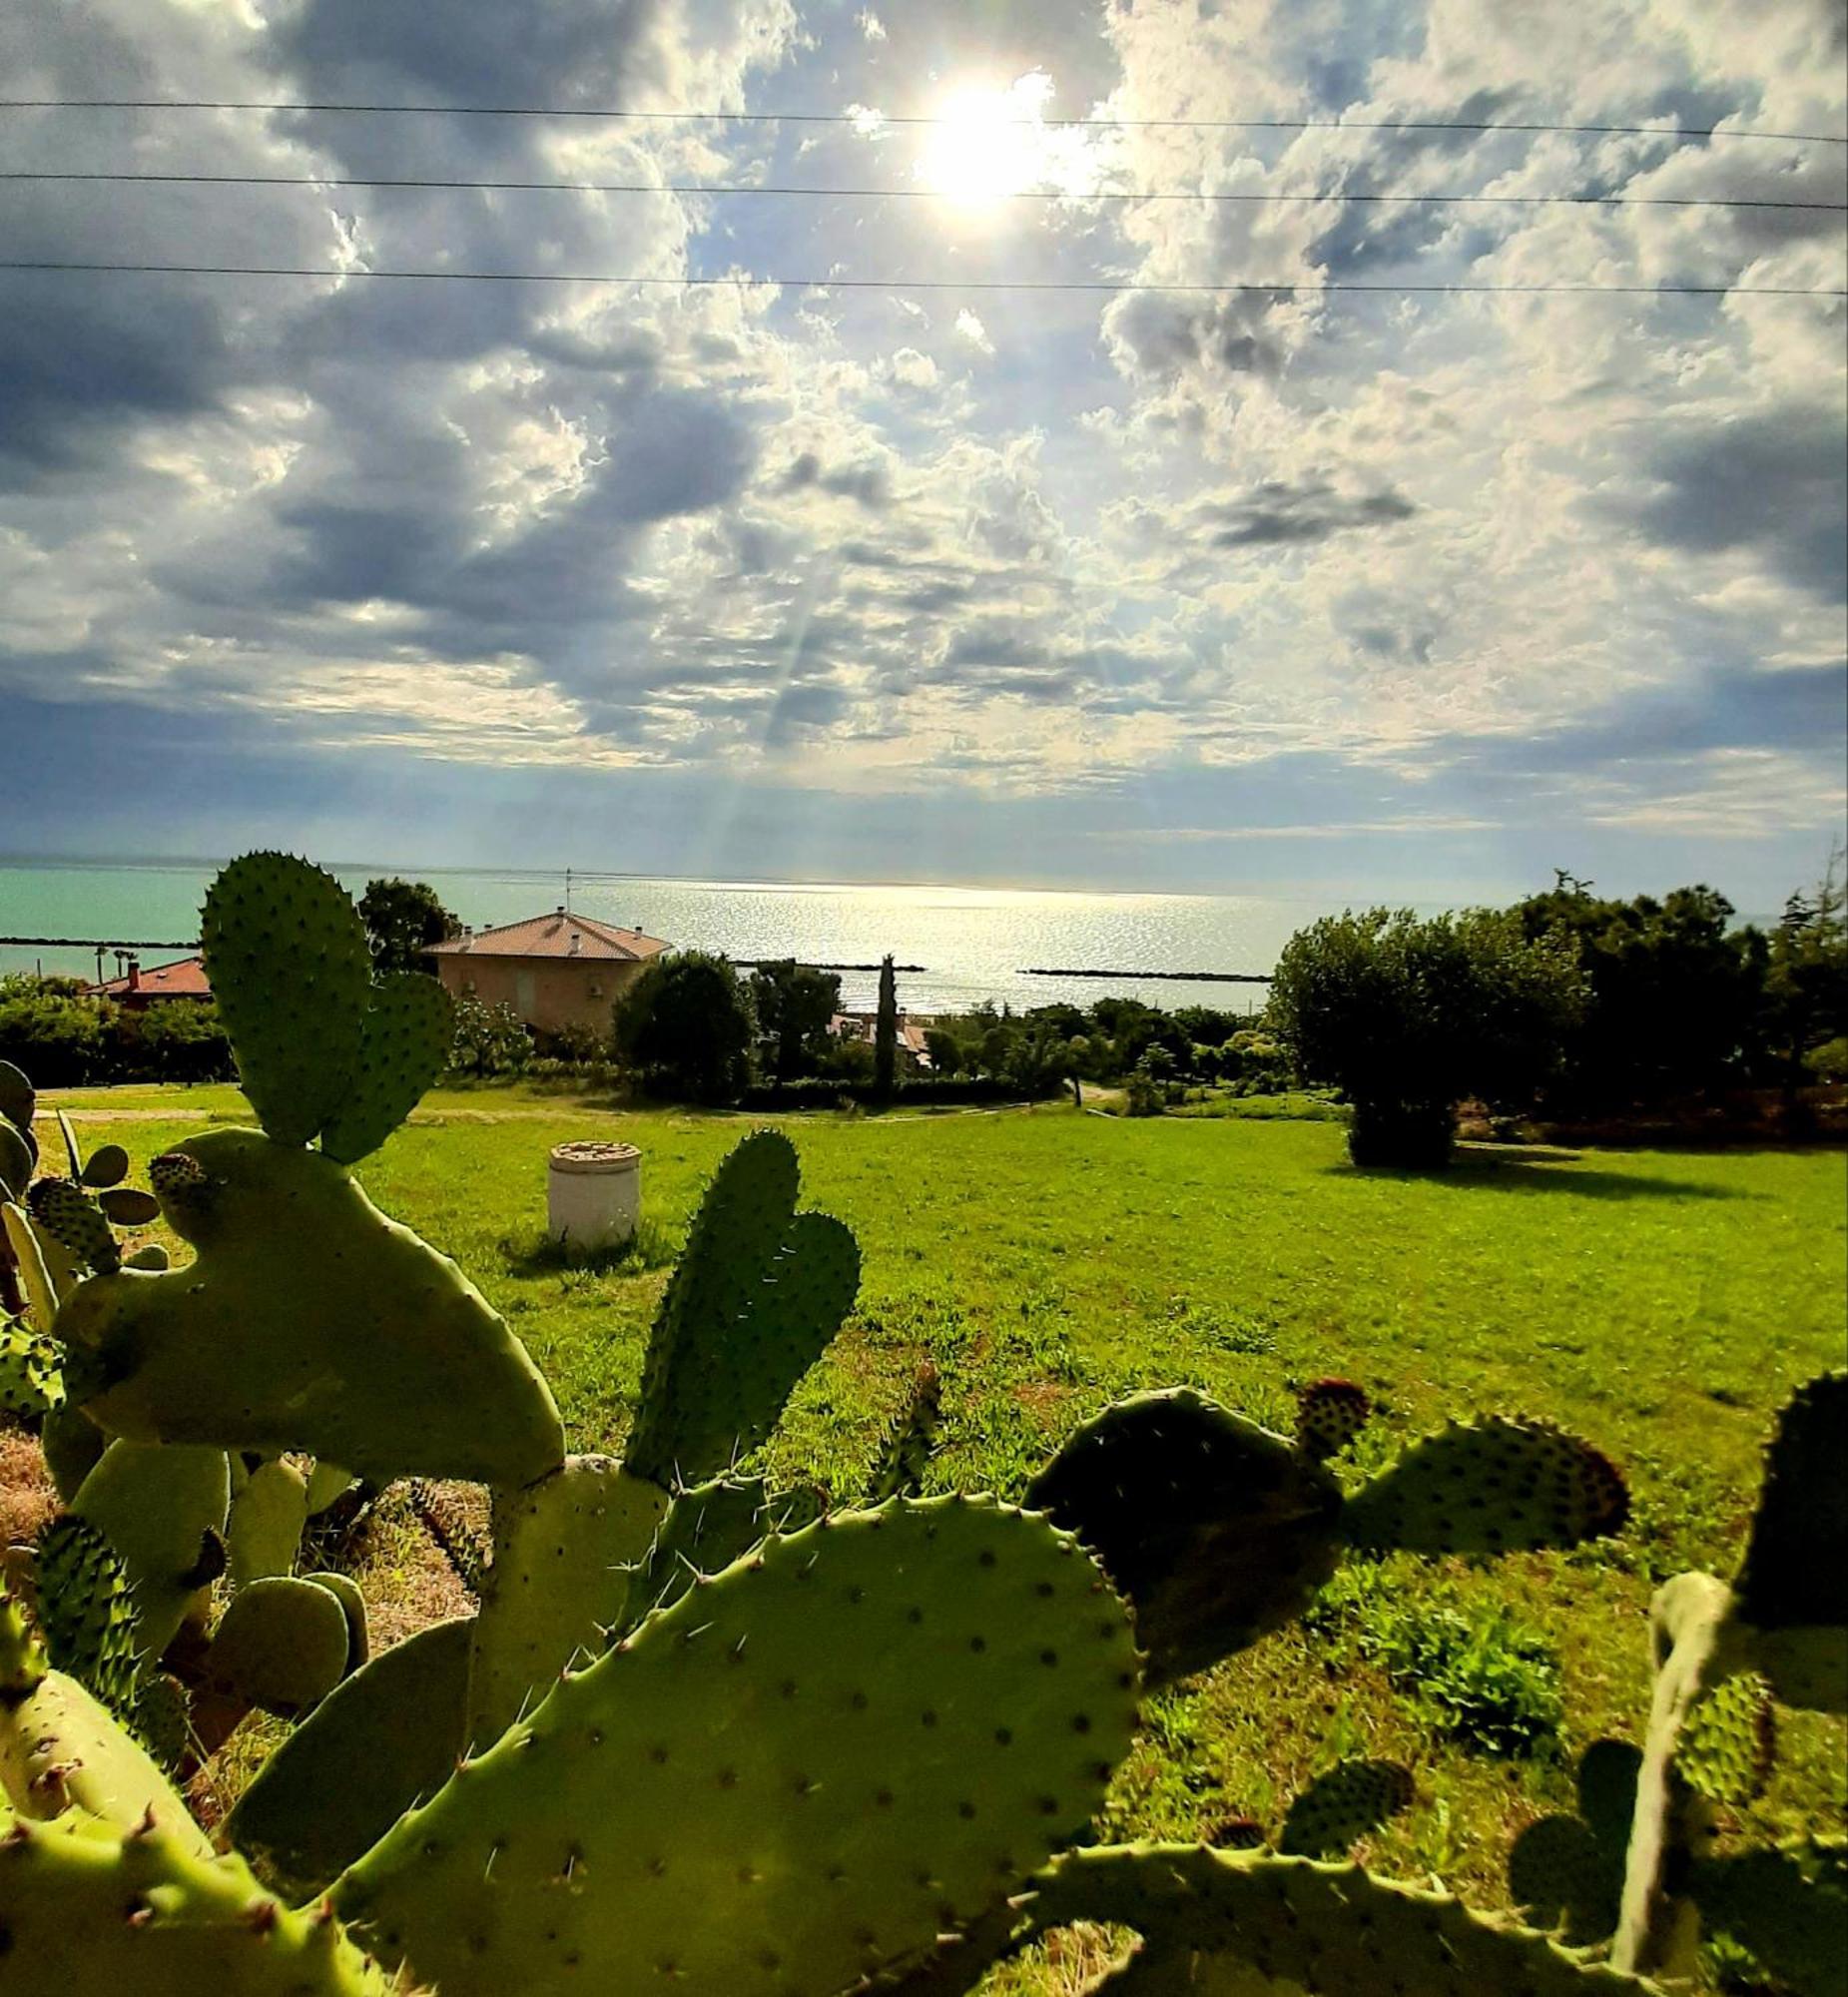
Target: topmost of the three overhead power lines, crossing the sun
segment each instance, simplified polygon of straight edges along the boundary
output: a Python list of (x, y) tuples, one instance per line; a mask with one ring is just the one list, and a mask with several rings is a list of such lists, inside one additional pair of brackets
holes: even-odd
[[(599, 118), (629, 124), (954, 126), (962, 118), (850, 112), (635, 110), (585, 104), (341, 104), (287, 98), (0, 98), (0, 112), (315, 112), (365, 118)], [(1048, 132), (1573, 132), (1587, 138), (1776, 140), (1848, 146), (1834, 132), (1744, 132), (1736, 126), (1549, 124), (1505, 118), (984, 118), (984, 126)]]

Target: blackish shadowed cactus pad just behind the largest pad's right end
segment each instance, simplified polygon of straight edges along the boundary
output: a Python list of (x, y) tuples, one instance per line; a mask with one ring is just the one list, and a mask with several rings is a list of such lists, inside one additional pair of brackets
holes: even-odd
[(1339, 1552), (1335, 1480), (1187, 1388), (1136, 1394), (1086, 1422), (1026, 1502), (1104, 1562), (1157, 1683), (1291, 1622)]

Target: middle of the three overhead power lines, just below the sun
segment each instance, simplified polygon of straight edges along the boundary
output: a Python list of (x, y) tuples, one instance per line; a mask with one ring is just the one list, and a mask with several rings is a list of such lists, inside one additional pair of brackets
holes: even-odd
[[(108, 186), (178, 188), (421, 188), (467, 194), (681, 194), (681, 196), (808, 196), (840, 202), (954, 200), (940, 188), (782, 188), (756, 182), (710, 180), (447, 180), (375, 174), (114, 174), (6, 170), (0, 182), (104, 182)], [(1495, 208), (1798, 208), (1820, 214), (1848, 214), (1848, 202), (1782, 202), (1732, 194), (1349, 194), (1341, 188), (1299, 194), (1243, 192), (1221, 188), (1110, 188), (1066, 192), (1060, 188), (1008, 188), (982, 200), (1006, 202), (1235, 202), (1271, 206), (1279, 202), (1365, 202), (1375, 206), (1495, 206)]]

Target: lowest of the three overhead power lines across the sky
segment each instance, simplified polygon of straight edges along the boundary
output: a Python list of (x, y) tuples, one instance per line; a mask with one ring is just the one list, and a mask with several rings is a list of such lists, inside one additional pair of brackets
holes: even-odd
[(1197, 298), (1265, 294), (1273, 298), (1321, 298), (1341, 292), (1387, 296), (1575, 296), (1575, 298), (1848, 298), (1848, 288), (1788, 284), (1369, 284), (1335, 278), (1323, 284), (1148, 284), (1126, 278), (778, 278), (778, 276), (613, 276), (565, 270), (327, 270), (305, 264), (104, 264), (52, 258), (8, 258), (0, 270), (64, 272), (90, 276), (168, 278), (393, 278), (417, 284), (595, 284), (643, 286), (651, 290), (748, 292), (774, 284), (794, 292), (1167, 292)]

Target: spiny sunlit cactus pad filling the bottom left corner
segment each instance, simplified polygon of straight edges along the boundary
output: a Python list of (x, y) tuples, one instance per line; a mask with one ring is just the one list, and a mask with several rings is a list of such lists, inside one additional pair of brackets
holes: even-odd
[(239, 1859), (78, 1817), (0, 1835), (6, 1997), (389, 1997), (325, 1913), (289, 1913)]

